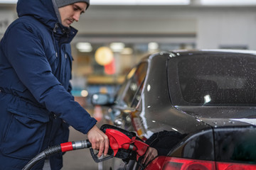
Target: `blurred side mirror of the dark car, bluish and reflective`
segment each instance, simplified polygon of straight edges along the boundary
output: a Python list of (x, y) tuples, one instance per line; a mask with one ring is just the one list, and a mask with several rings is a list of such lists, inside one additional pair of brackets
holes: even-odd
[(111, 106), (113, 102), (111, 101), (110, 94), (92, 94), (92, 105), (100, 105), (100, 106)]

